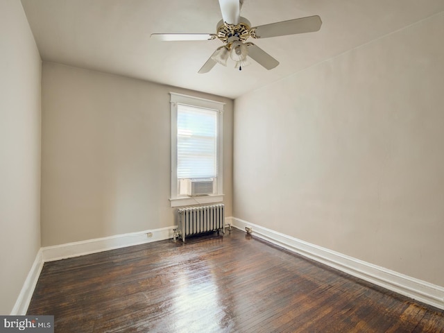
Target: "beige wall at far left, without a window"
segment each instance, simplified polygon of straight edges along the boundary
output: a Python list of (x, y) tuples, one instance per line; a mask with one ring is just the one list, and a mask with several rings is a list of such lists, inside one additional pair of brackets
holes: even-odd
[(0, 1), (0, 314), (40, 248), (41, 61), (22, 3)]

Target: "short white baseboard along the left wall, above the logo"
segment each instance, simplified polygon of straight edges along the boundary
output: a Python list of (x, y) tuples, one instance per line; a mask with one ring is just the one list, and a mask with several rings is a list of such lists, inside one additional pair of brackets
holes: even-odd
[(37, 285), (37, 281), (39, 280), (42, 268), (43, 259), (42, 249), (40, 248), (40, 250), (37, 252), (37, 255), (35, 256), (33, 266), (31, 266), (31, 270), (26, 277), (22, 290), (19, 293), (19, 297), (17, 298), (14, 307), (12, 308), (12, 311), (10, 313), (11, 316), (26, 315), (26, 311), (28, 311), (28, 306), (31, 302), (31, 298), (33, 297), (34, 289)]

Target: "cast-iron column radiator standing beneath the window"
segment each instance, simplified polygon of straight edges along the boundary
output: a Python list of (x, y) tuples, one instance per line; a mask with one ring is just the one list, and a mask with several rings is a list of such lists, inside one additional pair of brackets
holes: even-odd
[(178, 209), (178, 230), (174, 239), (179, 237), (185, 241), (185, 237), (204, 232), (225, 233), (225, 206), (208, 205), (200, 207), (184, 207)]

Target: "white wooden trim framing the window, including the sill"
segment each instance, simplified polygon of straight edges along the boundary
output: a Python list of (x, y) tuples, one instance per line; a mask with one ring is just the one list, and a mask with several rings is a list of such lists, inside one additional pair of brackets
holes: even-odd
[[(187, 96), (183, 94), (171, 94), (171, 207), (180, 207), (185, 205), (198, 205), (207, 203), (220, 203), (223, 201), (223, 106), (225, 103), (212, 101), (210, 99), (200, 99), (198, 97)], [(207, 108), (218, 111), (218, 140), (217, 140), (217, 194), (209, 196), (180, 196), (178, 193), (178, 103)]]

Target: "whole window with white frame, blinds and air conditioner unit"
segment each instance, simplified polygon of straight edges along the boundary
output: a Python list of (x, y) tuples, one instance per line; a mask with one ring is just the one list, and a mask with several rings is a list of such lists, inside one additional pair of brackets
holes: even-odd
[(171, 207), (223, 200), (223, 105), (171, 92)]

